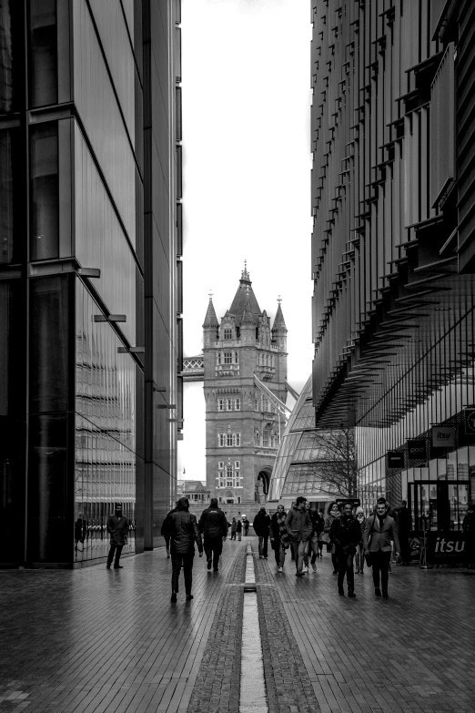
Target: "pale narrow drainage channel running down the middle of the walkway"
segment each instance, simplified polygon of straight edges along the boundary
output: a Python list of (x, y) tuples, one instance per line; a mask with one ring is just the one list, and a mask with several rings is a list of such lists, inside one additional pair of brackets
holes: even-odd
[(248, 545), (241, 641), (239, 713), (268, 713), (268, 696), (260, 641), (254, 557)]

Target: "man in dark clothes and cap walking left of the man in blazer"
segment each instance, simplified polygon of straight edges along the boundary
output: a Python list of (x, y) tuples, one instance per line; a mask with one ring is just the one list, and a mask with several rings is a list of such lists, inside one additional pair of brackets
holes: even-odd
[(361, 539), (361, 527), (352, 514), (353, 506), (345, 503), (340, 510), (340, 517), (335, 517), (331, 523), (329, 536), (335, 545), (339, 572), (339, 595), (345, 596), (343, 583), (347, 575), (348, 596), (355, 597), (355, 571), (353, 560), (357, 545)]

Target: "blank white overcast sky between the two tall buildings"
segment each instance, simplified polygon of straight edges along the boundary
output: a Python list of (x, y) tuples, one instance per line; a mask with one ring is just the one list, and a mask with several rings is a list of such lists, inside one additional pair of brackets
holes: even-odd
[[(261, 310), (278, 295), (288, 381), (311, 371), (308, 0), (182, 0), (184, 346), (201, 353), (244, 260)], [(185, 387), (178, 477), (206, 481), (203, 384)]]

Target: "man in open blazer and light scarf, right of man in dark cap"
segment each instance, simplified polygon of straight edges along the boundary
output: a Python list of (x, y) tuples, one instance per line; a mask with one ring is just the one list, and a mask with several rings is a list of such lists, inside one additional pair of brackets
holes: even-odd
[[(384, 498), (380, 498), (376, 505), (376, 513), (366, 521), (363, 535), (363, 546), (367, 564), (373, 568), (373, 584), (376, 596), (388, 598), (389, 565), (392, 545), (394, 542), (396, 553), (400, 552), (398, 526), (393, 517), (388, 514)], [(380, 586), (379, 586), (380, 576)]]

